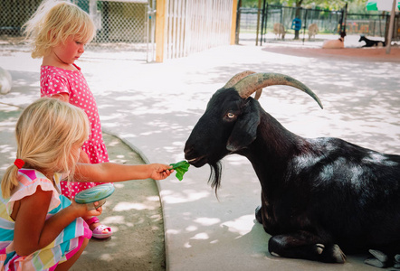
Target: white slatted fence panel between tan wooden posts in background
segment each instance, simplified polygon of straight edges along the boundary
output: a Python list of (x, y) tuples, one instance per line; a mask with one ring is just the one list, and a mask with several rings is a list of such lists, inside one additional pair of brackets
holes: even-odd
[(237, 0), (157, 0), (156, 61), (234, 43)]

